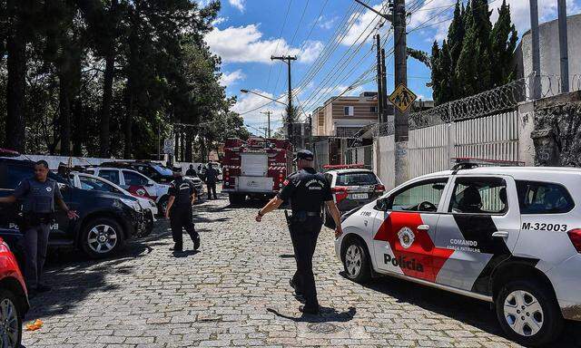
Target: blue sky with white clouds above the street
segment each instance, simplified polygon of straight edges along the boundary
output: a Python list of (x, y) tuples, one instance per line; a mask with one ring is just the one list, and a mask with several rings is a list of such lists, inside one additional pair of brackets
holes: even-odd
[[(537, 1), (540, 22), (556, 18), (556, 0)], [(378, 9), (387, 4), (381, 0), (366, 2)], [(488, 2), (494, 9), (495, 21), (502, 0)], [(408, 0), (409, 47), (429, 53), (434, 40), (445, 37), (455, 3), (456, 0)], [(507, 0), (507, 3), (520, 36), (529, 29), (529, 1)], [(581, 0), (566, 3), (567, 14), (581, 12)], [(387, 40), (388, 93), (393, 91), (393, 59), (389, 54), (393, 35), (389, 23), (377, 29), (378, 23), (378, 16), (353, 0), (222, 0), (215, 28), (205, 39), (212, 52), (222, 57), (222, 84), (227, 94), (238, 96), (234, 110), (241, 112), (245, 123), (255, 128), (266, 123), (266, 116), (260, 111), (273, 111), (271, 127), (276, 129), (281, 125), (284, 106), (273, 102), (248, 112), (269, 101), (240, 92), (247, 89), (273, 98), (282, 97), (281, 102), (286, 102), (286, 64), (271, 62), (271, 54), (299, 57), (292, 63), (292, 85), (301, 111), (309, 114), (341, 92), (357, 95), (376, 90), (374, 81), (363, 82), (375, 75), (370, 70), (375, 63), (372, 38), (379, 31)], [(424, 100), (431, 100), (431, 90), (426, 86), (429, 75), (425, 65), (408, 60), (409, 88)], [(358, 83), (346, 92), (354, 82)]]

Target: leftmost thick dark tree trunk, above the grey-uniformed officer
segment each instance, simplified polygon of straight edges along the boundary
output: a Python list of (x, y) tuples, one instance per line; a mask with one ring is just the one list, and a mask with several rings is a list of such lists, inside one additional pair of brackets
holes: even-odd
[(5, 148), (25, 151), (25, 87), (26, 39), (21, 19), (18, 18), (17, 0), (8, 0), (7, 12), (12, 20), (6, 38), (8, 53), (8, 82), (6, 84), (6, 136)]

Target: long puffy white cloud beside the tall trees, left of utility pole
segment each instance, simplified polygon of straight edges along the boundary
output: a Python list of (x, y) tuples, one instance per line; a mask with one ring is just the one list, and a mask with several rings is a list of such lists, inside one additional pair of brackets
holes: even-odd
[(319, 41), (309, 41), (300, 49), (291, 47), (284, 39), (262, 39), (257, 24), (214, 28), (205, 40), (212, 53), (220, 55), (224, 63), (272, 63), (271, 54), (298, 55), (300, 62), (310, 63), (323, 48)]

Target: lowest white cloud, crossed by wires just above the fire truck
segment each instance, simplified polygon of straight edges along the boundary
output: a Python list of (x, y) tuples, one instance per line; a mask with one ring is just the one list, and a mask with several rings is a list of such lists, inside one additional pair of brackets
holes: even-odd
[[(275, 98), (274, 95), (272, 95), (269, 92), (263, 92), (261, 90), (252, 90), (252, 92), (257, 92), (257, 93), (262, 94), (264, 96), (267, 96), (269, 98)], [(239, 112), (239, 113), (251, 111), (253, 109), (258, 108), (261, 105), (264, 105), (267, 102), (269, 102), (267, 99), (264, 99), (261, 96), (258, 96), (256, 94), (252, 94), (252, 93), (241, 94), (239, 96), (236, 104), (234, 104), (234, 106), (232, 107), (232, 111)], [(284, 99), (281, 99), (281, 102), (286, 102), (286, 101)], [(257, 128), (262, 127), (262, 126), (266, 127), (267, 116), (265, 114), (261, 113), (261, 111), (272, 111), (271, 129), (272, 129), (272, 132), (274, 132), (274, 129), (275, 129), (274, 125), (281, 123), (282, 114), (284, 113), (284, 105), (282, 105), (278, 102), (272, 102), (270, 105), (267, 105), (267, 106), (261, 108), (260, 110), (252, 111), (250, 113), (242, 115), (242, 118), (244, 119), (244, 123), (251, 124), (252, 126), (257, 127)], [(264, 123), (264, 124), (261, 124), (261, 123)], [(256, 132), (254, 130), (252, 130), (252, 131)]]

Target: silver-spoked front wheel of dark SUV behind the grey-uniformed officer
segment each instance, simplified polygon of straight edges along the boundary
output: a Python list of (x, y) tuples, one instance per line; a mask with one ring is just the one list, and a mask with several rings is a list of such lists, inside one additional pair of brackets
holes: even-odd
[(111, 256), (123, 247), (122, 227), (113, 218), (94, 218), (82, 230), (81, 247), (91, 258)]

